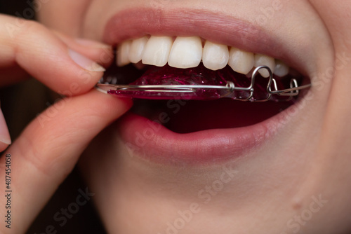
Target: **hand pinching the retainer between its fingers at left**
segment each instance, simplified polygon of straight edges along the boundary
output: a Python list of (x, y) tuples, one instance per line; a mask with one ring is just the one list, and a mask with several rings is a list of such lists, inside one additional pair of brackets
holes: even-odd
[[(131, 106), (130, 100), (92, 90), (104, 71), (98, 63), (106, 66), (112, 58), (110, 46), (77, 41), (37, 22), (0, 15), (0, 86), (30, 75), (66, 96), (34, 119), (1, 156), (0, 177), (11, 176), (9, 188), (1, 181), (1, 220), (8, 212), (5, 191), (12, 191), (13, 204), (11, 229), (2, 221), (0, 233), (25, 233), (88, 143)], [(11, 142), (1, 116), (0, 111), (4, 151)]]

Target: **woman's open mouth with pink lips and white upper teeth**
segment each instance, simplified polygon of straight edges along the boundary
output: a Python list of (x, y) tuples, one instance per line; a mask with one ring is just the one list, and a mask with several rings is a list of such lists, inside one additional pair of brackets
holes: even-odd
[[(140, 27), (140, 21), (133, 23), (132, 20), (127, 28), (125, 20), (135, 14), (144, 19), (144, 27)], [(210, 34), (207, 29), (213, 30), (213, 25), (206, 26), (208, 19), (199, 16), (180, 29), (177, 22), (183, 25), (182, 19), (172, 19), (172, 16), (152, 9), (139, 9), (112, 18), (106, 28), (105, 41), (118, 46), (118, 66), (108, 69), (102, 82), (221, 85), (231, 81), (236, 86), (246, 87), (251, 83), (253, 70), (267, 66), (274, 73), (279, 89), (289, 88), (291, 79), (308, 83), (308, 78), (303, 76), (305, 71), (298, 72), (286, 65), (298, 67), (296, 65), (300, 62), (287, 53), (289, 50), (284, 50), (284, 47), (273, 52), (267, 50), (266, 46), (273, 45), (274, 39), (263, 36), (265, 32), (261, 29), (248, 26), (244, 31), (249, 34), (244, 40), (234, 39), (225, 44), (223, 42), (228, 41), (225, 36), (231, 33), (230, 30), (226, 35)], [(209, 16), (212, 20), (220, 20), (218, 15)], [(203, 28), (199, 29), (201, 22)], [(228, 25), (230, 22), (224, 27)], [(246, 24), (233, 22), (232, 33), (237, 33), (238, 25), (241, 28)], [(252, 32), (263, 36), (261, 40), (265, 45), (259, 47), (258, 39), (251, 40)], [(192, 33), (197, 33), (197, 36)], [(274, 44), (274, 48), (280, 46)], [(270, 74), (265, 69), (259, 73), (254, 97), (265, 99)], [(218, 99), (215, 98), (218, 95), (216, 90), (214, 93), (203, 91), (196, 98), (176, 95), (167, 99), (157, 96), (143, 99), (140, 98), (143, 94), (131, 95), (139, 98), (134, 99), (133, 109), (119, 124), (128, 152), (157, 163), (182, 165), (244, 156), (270, 139), (279, 130), (277, 123), (284, 111), (298, 102), (297, 99), (279, 102), (287, 99), (279, 96), (272, 97), (270, 102), (238, 102), (236, 99), (245, 99), (249, 92), (235, 92), (231, 98)]]

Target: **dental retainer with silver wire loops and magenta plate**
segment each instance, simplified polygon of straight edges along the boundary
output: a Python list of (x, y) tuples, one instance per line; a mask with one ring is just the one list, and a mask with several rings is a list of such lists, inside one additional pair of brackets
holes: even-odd
[[(260, 69), (266, 69), (270, 76), (267, 79), (265, 95), (255, 95), (256, 76)], [(254, 69), (251, 76), (251, 84), (248, 87), (238, 87), (232, 81), (225, 85), (119, 85), (104, 83), (103, 79), (96, 85), (101, 92), (119, 97), (133, 97), (139, 99), (219, 99), (229, 97), (239, 101), (267, 102), (291, 101), (299, 95), (300, 90), (310, 88), (312, 85), (298, 85), (295, 78), (290, 80), (290, 88), (278, 89), (277, 81), (273, 78), (272, 71), (267, 66), (260, 66)], [(285, 97), (285, 98), (276, 98)]]

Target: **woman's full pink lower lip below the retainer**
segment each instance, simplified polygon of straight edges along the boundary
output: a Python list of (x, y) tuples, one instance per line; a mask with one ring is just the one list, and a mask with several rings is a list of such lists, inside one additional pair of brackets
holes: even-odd
[[(291, 108), (292, 106), (290, 106)], [(289, 108), (289, 109), (290, 109)], [(204, 165), (240, 158), (282, 130), (281, 113), (243, 128), (213, 129), (179, 134), (134, 113), (121, 118), (119, 131), (133, 156), (166, 165)], [(160, 116), (159, 122), (166, 116)], [(286, 123), (286, 122), (285, 122)]]

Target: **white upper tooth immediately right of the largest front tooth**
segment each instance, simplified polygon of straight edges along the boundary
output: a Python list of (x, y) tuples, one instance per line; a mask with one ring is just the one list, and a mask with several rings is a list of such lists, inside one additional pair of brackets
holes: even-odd
[(227, 66), (229, 61), (228, 46), (206, 41), (202, 54), (202, 63), (208, 69), (216, 71)]

